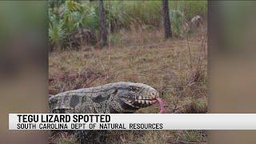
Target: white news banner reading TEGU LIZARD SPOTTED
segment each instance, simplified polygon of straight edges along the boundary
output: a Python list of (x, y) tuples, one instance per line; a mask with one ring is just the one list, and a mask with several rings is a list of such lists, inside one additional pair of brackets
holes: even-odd
[(9, 130), (256, 130), (256, 114), (9, 114)]

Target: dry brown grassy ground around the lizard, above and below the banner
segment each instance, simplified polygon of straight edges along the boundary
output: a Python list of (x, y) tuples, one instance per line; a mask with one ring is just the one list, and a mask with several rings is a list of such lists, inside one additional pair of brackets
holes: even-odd
[[(155, 34), (142, 32), (136, 36), (135, 33), (117, 36), (122, 42), (103, 50), (85, 47), (79, 51), (51, 53), (49, 93), (110, 82), (142, 82), (160, 92), (168, 113), (206, 113), (205, 34), (188, 40), (163, 40), (161, 30)], [(158, 111), (158, 106), (154, 105), (137, 113)], [(104, 138), (106, 143), (198, 143), (206, 142), (206, 133), (202, 130), (113, 130)], [(72, 135), (59, 134), (51, 142), (74, 143), (77, 140)]]

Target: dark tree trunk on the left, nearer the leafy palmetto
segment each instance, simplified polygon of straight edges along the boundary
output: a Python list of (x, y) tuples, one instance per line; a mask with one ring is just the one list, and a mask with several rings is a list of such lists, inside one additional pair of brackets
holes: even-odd
[(99, 0), (99, 18), (100, 18), (100, 45), (107, 46), (107, 30), (106, 30), (106, 16), (103, 1)]

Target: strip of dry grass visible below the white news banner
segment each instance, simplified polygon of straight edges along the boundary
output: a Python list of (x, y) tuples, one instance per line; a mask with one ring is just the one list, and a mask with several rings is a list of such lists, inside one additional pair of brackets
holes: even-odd
[[(96, 134), (95, 134), (96, 135)], [(206, 143), (204, 130), (111, 130), (100, 138), (86, 140), (86, 143), (106, 144), (192, 144)], [(72, 134), (56, 134), (50, 138), (50, 143), (73, 144), (80, 143)]]

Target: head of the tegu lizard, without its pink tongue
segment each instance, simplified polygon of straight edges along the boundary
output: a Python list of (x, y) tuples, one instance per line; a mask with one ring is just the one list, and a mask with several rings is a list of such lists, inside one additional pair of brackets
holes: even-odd
[(159, 93), (151, 86), (142, 83), (129, 83), (118, 86), (116, 102), (121, 106), (122, 112), (133, 113), (134, 111), (151, 106), (156, 103)]

